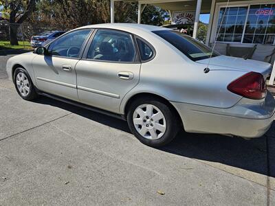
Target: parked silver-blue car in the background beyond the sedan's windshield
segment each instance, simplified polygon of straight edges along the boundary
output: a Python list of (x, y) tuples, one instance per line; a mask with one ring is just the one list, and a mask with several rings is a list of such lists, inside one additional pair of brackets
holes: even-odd
[(61, 36), (65, 32), (63, 31), (47, 31), (43, 32), (37, 36), (32, 36), (30, 44), (32, 47), (43, 47), (47, 43), (50, 43), (51, 41), (54, 40), (54, 38), (57, 38), (58, 36)]

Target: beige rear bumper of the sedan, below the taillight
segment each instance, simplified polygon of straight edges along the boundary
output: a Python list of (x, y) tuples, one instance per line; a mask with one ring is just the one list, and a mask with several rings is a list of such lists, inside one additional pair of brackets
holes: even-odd
[(190, 133), (261, 137), (275, 118), (275, 100), (270, 93), (267, 93), (264, 101), (243, 98), (231, 108), (210, 108), (179, 102), (171, 104), (179, 112), (184, 129)]

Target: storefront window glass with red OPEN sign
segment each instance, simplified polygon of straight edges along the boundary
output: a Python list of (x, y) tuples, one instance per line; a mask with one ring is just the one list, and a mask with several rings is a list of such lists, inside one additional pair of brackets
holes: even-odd
[(220, 9), (217, 41), (274, 44), (274, 40), (275, 3)]

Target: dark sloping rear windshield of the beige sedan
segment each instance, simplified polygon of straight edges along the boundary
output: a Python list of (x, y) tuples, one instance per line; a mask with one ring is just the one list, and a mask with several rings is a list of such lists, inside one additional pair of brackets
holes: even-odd
[[(164, 40), (168, 41), (168, 43), (179, 49), (180, 52), (193, 61), (203, 60), (210, 58), (211, 56), (212, 49), (210, 49), (210, 47), (200, 43), (186, 34), (173, 30), (159, 30), (154, 31), (153, 33), (164, 38)], [(219, 56), (219, 54), (217, 52), (213, 52), (212, 57), (215, 56)]]

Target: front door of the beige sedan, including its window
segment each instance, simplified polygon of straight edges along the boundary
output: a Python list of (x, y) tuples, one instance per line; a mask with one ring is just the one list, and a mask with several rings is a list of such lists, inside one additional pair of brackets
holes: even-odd
[(32, 65), (39, 90), (78, 100), (75, 67), (90, 31), (89, 29), (69, 32), (50, 44), (49, 54), (38, 54), (34, 58)]

